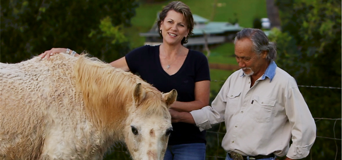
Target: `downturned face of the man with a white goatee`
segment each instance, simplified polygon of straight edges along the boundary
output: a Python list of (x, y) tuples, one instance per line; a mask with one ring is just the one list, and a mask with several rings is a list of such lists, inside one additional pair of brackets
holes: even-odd
[(267, 65), (267, 53), (258, 56), (253, 50), (253, 43), (249, 38), (244, 38), (235, 43), (235, 58), (239, 67), (246, 76), (257, 75), (263, 65)]

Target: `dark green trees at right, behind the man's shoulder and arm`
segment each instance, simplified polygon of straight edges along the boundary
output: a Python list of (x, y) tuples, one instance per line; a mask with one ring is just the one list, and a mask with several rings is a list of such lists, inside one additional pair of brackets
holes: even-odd
[[(277, 42), (277, 65), (299, 85), (341, 87), (341, 1), (277, 0), (276, 5), (282, 31), (273, 29), (269, 38)], [(314, 117), (341, 118), (341, 90), (300, 91)], [(319, 120), (316, 126), (317, 136), (341, 139), (341, 120)], [(317, 137), (311, 154), (313, 159), (341, 159), (341, 140)]]

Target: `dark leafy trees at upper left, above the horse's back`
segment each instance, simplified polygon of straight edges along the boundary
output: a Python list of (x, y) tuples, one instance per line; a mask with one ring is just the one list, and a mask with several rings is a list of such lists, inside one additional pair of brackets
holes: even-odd
[(122, 32), (135, 0), (3, 0), (1, 62), (16, 63), (51, 48), (86, 50), (111, 62), (129, 51)]

